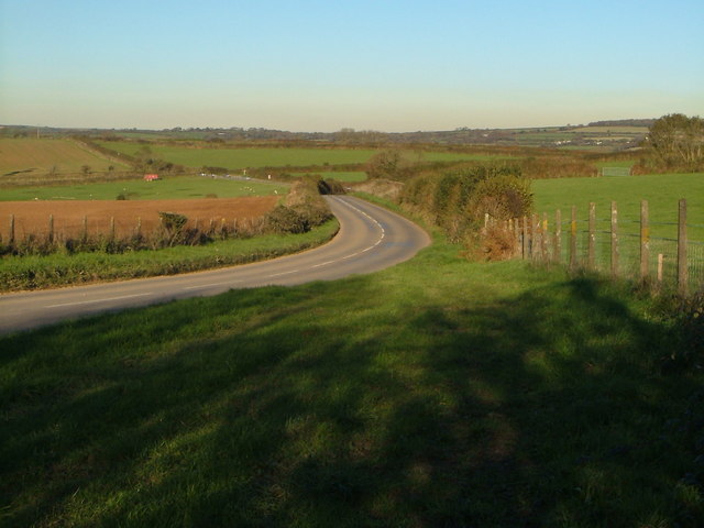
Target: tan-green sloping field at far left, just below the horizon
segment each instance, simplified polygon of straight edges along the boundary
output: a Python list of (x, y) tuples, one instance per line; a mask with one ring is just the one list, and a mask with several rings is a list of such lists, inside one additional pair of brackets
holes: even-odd
[(109, 166), (125, 168), (72, 140), (0, 140), (0, 177), (13, 172), (45, 174), (52, 167), (61, 173), (78, 173), (84, 165), (90, 166), (92, 170), (108, 170)]

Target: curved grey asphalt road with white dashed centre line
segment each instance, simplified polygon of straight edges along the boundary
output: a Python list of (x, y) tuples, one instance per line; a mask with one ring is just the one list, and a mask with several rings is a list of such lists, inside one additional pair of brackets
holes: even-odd
[(229, 289), (296, 285), (371, 273), (414, 256), (430, 243), (413, 222), (352, 197), (327, 197), (340, 221), (329, 243), (295, 255), (208, 272), (0, 296), (0, 332)]

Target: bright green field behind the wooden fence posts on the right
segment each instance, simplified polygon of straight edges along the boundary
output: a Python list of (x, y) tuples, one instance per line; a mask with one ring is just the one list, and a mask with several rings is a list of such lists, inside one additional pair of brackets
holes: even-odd
[(648, 200), (652, 235), (668, 238), (676, 234), (678, 201), (686, 198), (690, 238), (704, 241), (704, 174), (536, 179), (531, 187), (536, 211), (554, 218), (556, 209), (561, 209), (563, 221), (569, 220), (573, 205), (580, 220), (585, 219), (593, 201), (597, 217), (606, 222), (615, 200), (624, 232), (639, 231), (640, 200)]

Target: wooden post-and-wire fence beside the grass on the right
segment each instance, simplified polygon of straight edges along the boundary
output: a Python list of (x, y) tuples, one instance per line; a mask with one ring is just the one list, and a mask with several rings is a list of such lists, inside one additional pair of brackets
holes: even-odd
[[(565, 264), (570, 271), (596, 271), (615, 278), (636, 278), (657, 287), (674, 288), (681, 295), (704, 288), (704, 242), (689, 240), (686, 200), (679, 201), (676, 222), (654, 224), (676, 226), (675, 238), (651, 235), (647, 200), (640, 204), (637, 221), (620, 219), (615, 201), (607, 220), (597, 219), (593, 202), (587, 212), (586, 220), (578, 220), (576, 207), (572, 206), (569, 221), (562, 220), (562, 211), (556, 211), (552, 229), (547, 215), (542, 220), (537, 215), (515, 219), (506, 229), (514, 233), (516, 253), (524, 260)], [(638, 224), (637, 232), (625, 229), (635, 227), (634, 223)], [(568, 228), (566, 244), (562, 240), (563, 228)]]

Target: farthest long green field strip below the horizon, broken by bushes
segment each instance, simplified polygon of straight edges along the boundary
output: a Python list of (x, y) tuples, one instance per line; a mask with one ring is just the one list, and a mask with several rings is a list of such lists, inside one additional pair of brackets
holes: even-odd
[[(133, 142), (99, 142), (113, 151), (134, 155), (145, 146)], [(187, 167), (216, 166), (230, 169), (245, 167), (286, 167), (310, 165), (360, 164), (369, 161), (378, 151), (369, 148), (193, 148), (174, 145), (146, 145), (154, 156)], [(453, 162), (465, 160), (490, 161), (510, 156), (490, 154), (424, 152), (421, 155), (409, 153), (409, 158), (426, 162)]]

